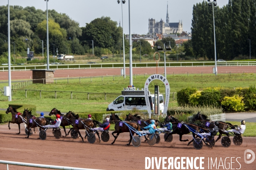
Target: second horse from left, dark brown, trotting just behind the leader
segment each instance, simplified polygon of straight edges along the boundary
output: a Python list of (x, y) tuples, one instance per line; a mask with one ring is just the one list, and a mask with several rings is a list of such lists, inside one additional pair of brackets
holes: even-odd
[[(26, 122), (27, 129), (29, 130), (29, 128), (34, 128), (34, 132), (35, 132), (35, 127), (39, 126), (39, 128), (41, 130), (42, 126), (46, 125), (47, 122), (52, 120), (52, 119), (45, 119), (45, 118), (42, 118), (42, 117), (35, 117), (31, 114), (31, 111), (29, 111), (27, 109), (24, 109), (23, 116), (27, 117), (27, 122)], [(33, 119), (35, 121), (32, 120), (32, 123), (31, 123), (30, 119)], [(28, 136), (26, 136), (26, 138), (29, 138), (29, 133), (28, 133)]]

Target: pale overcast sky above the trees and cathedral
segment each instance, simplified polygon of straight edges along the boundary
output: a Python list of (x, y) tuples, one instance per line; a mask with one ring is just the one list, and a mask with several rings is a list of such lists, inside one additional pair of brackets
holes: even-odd
[[(203, 0), (168, 0), (169, 20), (177, 23), (182, 20), (183, 30), (190, 32), (192, 20), (192, 8)], [(10, 6), (34, 6), (36, 9), (46, 10), (44, 0), (9, 0)], [(122, 3), (122, 2), (121, 2)], [(121, 21), (122, 8), (117, 0), (49, 0), (48, 9), (55, 9), (59, 13), (66, 13), (70, 18), (79, 22), (80, 26), (86, 26), (95, 18), (102, 16), (111, 17), (111, 20)], [(228, 0), (217, 0), (222, 7)], [(8, 0), (0, 0), (0, 6), (6, 6)], [(147, 34), (148, 19), (153, 18), (166, 22), (167, 0), (130, 0), (131, 7), (131, 33)], [(124, 33), (129, 34), (128, 0), (123, 4)]]

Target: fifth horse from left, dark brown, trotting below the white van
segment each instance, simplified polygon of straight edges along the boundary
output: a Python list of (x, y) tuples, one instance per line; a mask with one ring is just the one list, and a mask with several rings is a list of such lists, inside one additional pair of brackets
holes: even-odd
[[(114, 136), (114, 141), (111, 143), (111, 144), (114, 144), (117, 137), (119, 136), (120, 133), (124, 133), (124, 132), (129, 132), (130, 133), (130, 129), (129, 127), (127, 127), (125, 124), (122, 125), (122, 127), (119, 126), (119, 123), (120, 121), (122, 121), (116, 114), (114, 113), (111, 113), (110, 115), (110, 121), (114, 121), (116, 123), (115, 125), (115, 131), (112, 132), (112, 135), (114, 136), (114, 133), (116, 133), (116, 136)], [(133, 127), (134, 129), (136, 130), (140, 130), (140, 125), (138, 125), (137, 123), (135, 122), (126, 122), (128, 125), (130, 125), (131, 127)], [(134, 131), (131, 130), (131, 133), (130, 133), (130, 140), (129, 140), (129, 143), (126, 144), (127, 146), (129, 146), (131, 144), (131, 140), (132, 140), (132, 136), (134, 135)]]

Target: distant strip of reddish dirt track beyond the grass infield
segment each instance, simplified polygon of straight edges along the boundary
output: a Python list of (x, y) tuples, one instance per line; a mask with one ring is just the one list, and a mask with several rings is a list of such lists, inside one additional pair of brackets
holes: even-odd
[[(130, 69), (126, 68), (125, 73), (128, 76)], [(256, 73), (256, 66), (222, 66), (218, 67), (218, 74), (232, 73)], [(212, 73), (212, 66), (210, 67), (166, 67), (167, 74), (210, 74)], [(163, 74), (164, 68), (133, 68), (133, 74)], [(56, 70), (55, 78), (61, 77), (90, 77), (90, 76), (107, 76), (120, 75), (121, 68), (98, 68), (98, 69), (74, 69), (74, 70)], [(17, 79), (32, 79), (32, 71), (12, 71), (11, 77), (13, 80)], [(0, 80), (8, 80), (8, 71), (0, 72)]]

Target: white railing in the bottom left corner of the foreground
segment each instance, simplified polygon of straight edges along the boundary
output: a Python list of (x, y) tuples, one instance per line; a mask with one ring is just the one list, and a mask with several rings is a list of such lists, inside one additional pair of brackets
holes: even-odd
[(8, 164), (25, 166), (25, 167), (41, 167), (41, 168), (55, 169), (55, 170), (96, 170), (96, 169), (89, 169), (89, 168), (63, 167), (63, 166), (46, 165), (46, 164), (31, 164), (31, 163), (25, 163), (25, 162), (4, 161), (4, 160), (0, 160), (0, 164), (7, 164), (6, 165), (7, 170), (9, 170)]

